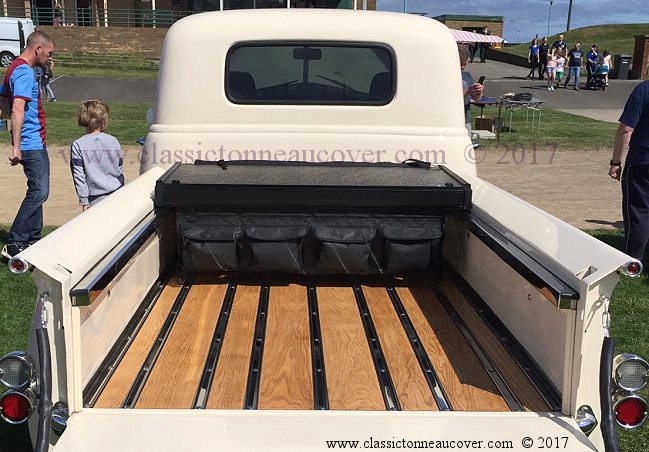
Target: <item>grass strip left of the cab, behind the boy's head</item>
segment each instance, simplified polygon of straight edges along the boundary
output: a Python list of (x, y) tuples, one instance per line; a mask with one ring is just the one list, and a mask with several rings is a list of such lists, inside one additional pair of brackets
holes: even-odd
[[(74, 140), (85, 134), (77, 125), (76, 102), (46, 102), (43, 104), (47, 114), (47, 142), (49, 145), (70, 146)], [(149, 104), (112, 104), (107, 133), (117, 137), (122, 145), (135, 144), (135, 140), (146, 136), (149, 124), (146, 112)], [(0, 133), (0, 143), (10, 144), (10, 135)]]

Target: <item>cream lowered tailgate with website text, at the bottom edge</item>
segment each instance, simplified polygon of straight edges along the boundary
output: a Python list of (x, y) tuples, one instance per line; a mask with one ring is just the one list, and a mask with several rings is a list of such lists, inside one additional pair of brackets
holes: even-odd
[(54, 450), (524, 451), (550, 445), (595, 450), (571, 418), (551, 413), (99, 409), (73, 415)]

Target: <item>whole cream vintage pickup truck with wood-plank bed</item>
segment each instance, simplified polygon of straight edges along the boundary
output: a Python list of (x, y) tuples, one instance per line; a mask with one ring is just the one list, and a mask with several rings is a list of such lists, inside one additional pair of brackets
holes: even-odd
[(141, 176), (9, 262), (39, 295), (2, 418), (38, 451), (618, 450), (641, 263), (478, 178), (462, 96), (428, 18), (174, 24)]

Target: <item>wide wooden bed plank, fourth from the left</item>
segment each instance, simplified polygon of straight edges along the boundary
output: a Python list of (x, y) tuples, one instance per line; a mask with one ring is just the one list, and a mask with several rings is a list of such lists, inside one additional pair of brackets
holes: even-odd
[(261, 365), (260, 409), (313, 409), (313, 376), (306, 287), (270, 289)]

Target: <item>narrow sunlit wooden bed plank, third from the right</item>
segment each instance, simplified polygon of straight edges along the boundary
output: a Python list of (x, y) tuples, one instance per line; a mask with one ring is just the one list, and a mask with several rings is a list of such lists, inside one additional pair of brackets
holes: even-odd
[(363, 286), (363, 293), (388, 363), (401, 409), (437, 411), (433, 394), (385, 287)]

